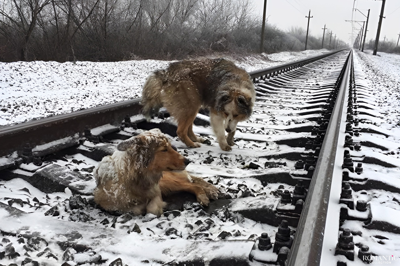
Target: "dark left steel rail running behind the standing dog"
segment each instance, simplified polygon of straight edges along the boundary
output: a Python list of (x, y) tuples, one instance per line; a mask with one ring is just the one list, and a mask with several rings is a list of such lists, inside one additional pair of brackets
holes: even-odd
[[(274, 73), (281, 73), (318, 61), (345, 49), (324, 53), (314, 57), (269, 67), (258, 71), (250, 72), (252, 79), (263, 77)], [(104, 124), (120, 124), (126, 115), (132, 116), (140, 113), (142, 106), (140, 98), (87, 108), (68, 114), (60, 114), (48, 118), (42, 118), (30, 122), (24, 122), (12, 126), (3, 126), (0, 128), (0, 156), (6, 156), (16, 150), (22, 150), (27, 144), (30, 147), (48, 143), (77, 133), (82, 134), (85, 126), (94, 128)]]

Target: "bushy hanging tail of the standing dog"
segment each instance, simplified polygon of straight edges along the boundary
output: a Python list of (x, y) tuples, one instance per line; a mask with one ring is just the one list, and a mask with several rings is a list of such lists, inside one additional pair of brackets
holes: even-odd
[(152, 116), (157, 114), (158, 110), (162, 107), (160, 94), (162, 90), (163, 74), (164, 71), (161, 70), (150, 73), (143, 85), (141, 102), (143, 105), (142, 114), (147, 120), (150, 120)]

